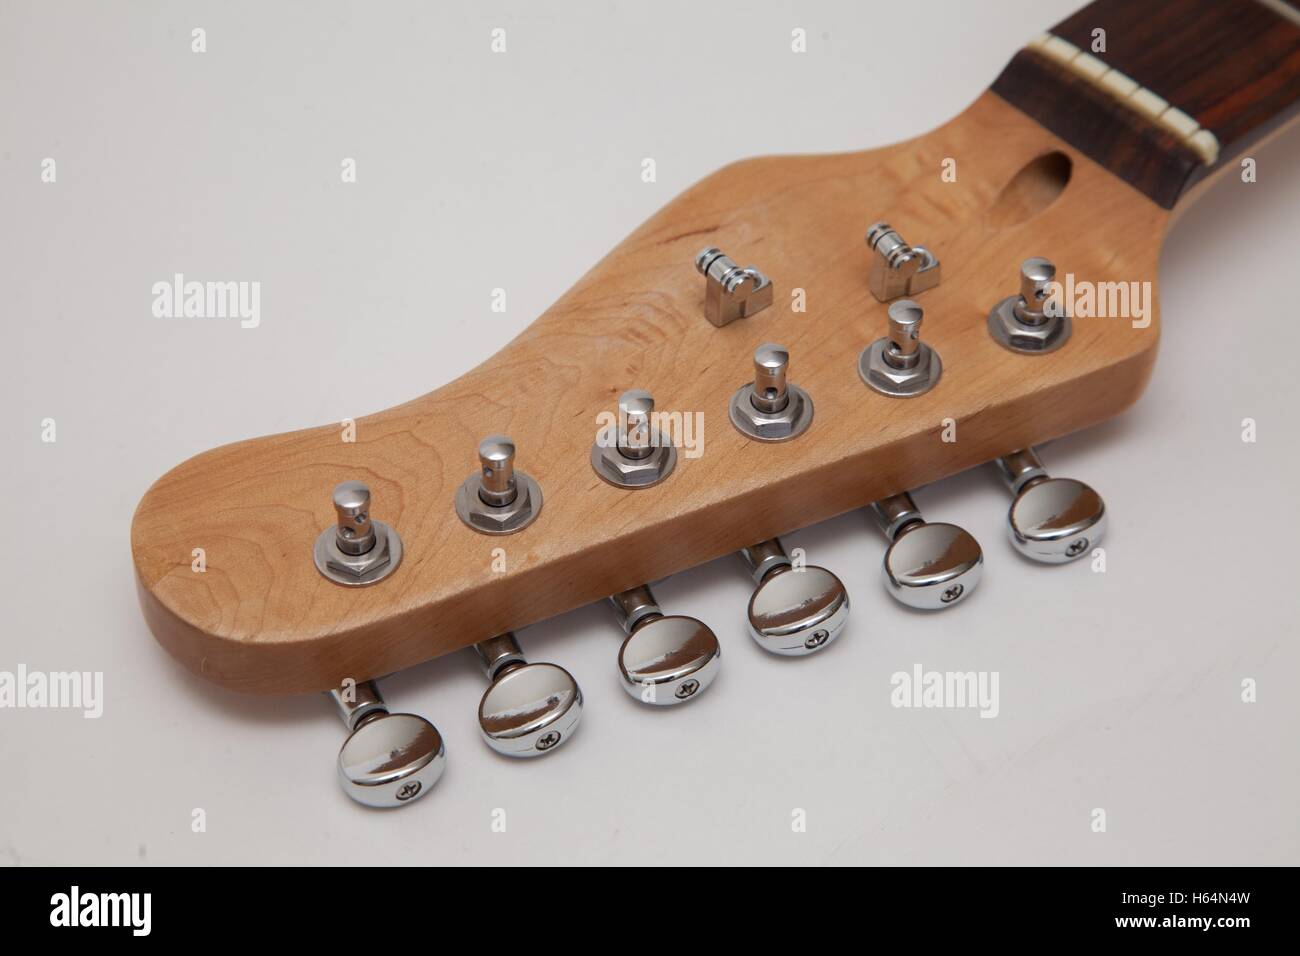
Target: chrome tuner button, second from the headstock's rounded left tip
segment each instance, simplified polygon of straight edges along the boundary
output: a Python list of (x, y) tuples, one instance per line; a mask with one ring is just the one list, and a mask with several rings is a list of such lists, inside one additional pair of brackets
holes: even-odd
[(572, 736), (582, 717), (582, 691), (554, 663), (528, 663), (515, 635), (474, 645), (491, 682), (478, 701), (478, 730), (507, 757), (541, 757)]

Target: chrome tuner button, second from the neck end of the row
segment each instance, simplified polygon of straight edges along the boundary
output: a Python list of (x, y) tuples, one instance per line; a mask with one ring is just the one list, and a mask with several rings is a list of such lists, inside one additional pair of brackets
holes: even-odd
[(909, 607), (942, 610), (966, 600), (984, 574), (984, 551), (956, 524), (926, 522), (904, 492), (871, 506), (889, 538), (885, 591)]

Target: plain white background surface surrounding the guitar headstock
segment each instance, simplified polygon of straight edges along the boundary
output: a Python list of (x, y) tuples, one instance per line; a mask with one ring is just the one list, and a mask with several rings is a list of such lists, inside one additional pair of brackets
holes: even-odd
[[(478, 740), (468, 652), (385, 680), (450, 757), (394, 813), (335, 786), (325, 698), (218, 691), (136, 607), (131, 512), (173, 464), (455, 377), (699, 177), (920, 134), (1078, 3), (4, 3), (0, 670), (100, 670), (107, 702), (0, 710), (0, 861), (1300, 862), (1300, 130), (1170, 235), (1145, 397), (1044, 453), (1105, 496), (1105, 574), (1020, 561), (1004, 489), (968, 472), (916, 496), (984, 544), (953, 614), (890, 602), (859, 512), (786, 538), (852, 592), (823, 656), (750, 643), (734, 559), (658, 587), (725, 648), (690, 706), (624, 695), (603, 607), (521, 632), (586, 693), (547, 760)], [(260, 281), (261, 326), (153, 319), (173, 272)], [(998, 671), (1000, 715), (893, 709), (890, 674), (918, 662)]]

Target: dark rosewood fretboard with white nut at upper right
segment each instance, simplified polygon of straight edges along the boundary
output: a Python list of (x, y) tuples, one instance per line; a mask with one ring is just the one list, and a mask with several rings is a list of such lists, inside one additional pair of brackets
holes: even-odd
[(993, 92), (1169, 209), (1300, 109), (1286, 0), (1097, 0)]

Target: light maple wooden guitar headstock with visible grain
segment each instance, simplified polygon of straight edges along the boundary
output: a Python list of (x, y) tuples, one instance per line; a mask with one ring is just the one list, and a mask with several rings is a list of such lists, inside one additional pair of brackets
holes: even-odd
[[(1063, 193), (1004, 189), (1058, 151)], [(957, 181), (940, 177), (957, 161)], [(1014, 196), (1013, 196), (1014, 194)], [(1005, 203), (1015, 202), (1014, 209)], [(1026, 217), (1027, 216), (1027, 217)], [(931, 393), (890, 399), (858, 378), (884, 333), (867, 289), (866, 228), (888, 220), (935, 250), (942, 284), (919, 297), (941, 354)], [(235, 691), (320, 691), (380, 676), (939, 480), (1032, 442), (1096, 424), (1141, 393), (1149, 328), (1079, 319), (1058, 352), (1024, 356), (985, 332), (1030, 255), (1076, 280), (1154, 281), (1167, 212), (1001, 98), (985, 94), (915, 140), (835, 156), (727, 166), (688, 190), (597, 264), (493, 359), (436, 392), (358, 423), (230, 445), (185, 462), (144, 496), (131, 528), (144, 615), (187, 667)], [(776, 304), (718, 329), (702, 313), (694, 254), (716, 245), (766, 271)], [(807, 311), (792, 312), (790, 291)], [(489, 330), (490, 333), (490, 330)], [(792, 380), (816, 405), (784, 445), (746, 441), (727, 402), (760, 342), (790, 349)], [(660, 410), (702, 411), (705, 453), (645, 490), (619, 490), (588, 463), (597, 415), (627, 388)], [(945, 419), (957, 441), (944, 442)], [(456, 518), (476, 445), (511, 434), (545, 509), (526, 531), (486, 537)], [(332, 524), (330, 489), (367, 481), (373, 514), (398, 528), (403, 566), (346, 589), (317, 574), (312, 542)], [(191, 571), (191, 549), (207, 572)], [(493, 572), (503, 548), (504, 574)], [(737, 563), (737, 574), (741, 574)]]

